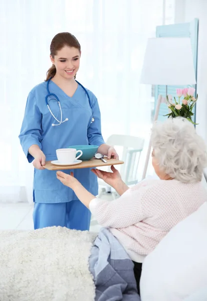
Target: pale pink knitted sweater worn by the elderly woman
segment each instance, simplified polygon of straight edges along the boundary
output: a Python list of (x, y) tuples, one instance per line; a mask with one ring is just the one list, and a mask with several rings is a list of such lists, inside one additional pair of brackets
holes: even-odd
[(201, 182), (144, 180), (114, 201), (93, 199), (90, 211), (108, 227), (129, 257), (143, 262), (160, 240), (179, 221), (207, 200)]

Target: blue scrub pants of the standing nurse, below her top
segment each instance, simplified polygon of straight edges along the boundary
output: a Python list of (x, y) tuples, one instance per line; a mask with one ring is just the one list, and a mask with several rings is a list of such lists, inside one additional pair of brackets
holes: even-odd
[(61, 226), (84, 231), (89, 230), (91, 212), (79, 200), (68, 203), (35, 203), (33, 221), (35, 229)]

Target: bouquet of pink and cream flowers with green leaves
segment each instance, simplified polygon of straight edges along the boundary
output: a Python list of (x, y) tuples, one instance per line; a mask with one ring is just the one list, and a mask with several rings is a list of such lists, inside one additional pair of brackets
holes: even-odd
[[(194, 92), (194, 88), (176, 89), (178, 100), (176, 100), (176, 98), (174, 97), (174, 102), (172, 100), (172, 96), (167, 95), (168, 108), (171, 110), (171, 112), (164, 116), (168, 116), (168, 118), (175, 118), (180, 116), (186, 118), (193, 124), (197, 124), (192, 121), (192, 109), (197, 101), (197, 96), (196, 98), (193, 96)], [(184, 98), (180, 103), (180, 98), (182, 96), (184, 96)]]

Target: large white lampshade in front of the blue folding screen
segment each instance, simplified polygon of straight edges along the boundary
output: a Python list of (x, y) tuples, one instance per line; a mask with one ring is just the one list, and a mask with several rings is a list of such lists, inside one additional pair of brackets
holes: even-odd
[(140, 82), (151, 85), (195, 84), (190, 38), (148, 39)]

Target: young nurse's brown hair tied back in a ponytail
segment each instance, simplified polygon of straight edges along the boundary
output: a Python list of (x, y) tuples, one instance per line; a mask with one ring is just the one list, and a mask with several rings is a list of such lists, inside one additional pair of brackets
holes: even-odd
[[(54, 59), (54, 56), (57, 55), (57, 52), (65, 46), (75, 47), (81, 52), (81, 45), (79, 44), (76, 37), (74, 37), (70, 33), (59, 33), (53, 38), (50, 44), (50, 54), (52, 58)], [(55, 74), (56, 74), (56, 67), (53, 64), (52, 67), (47, 72), (46, 81), (48, 81), (49, 78), (54, 77)]]

